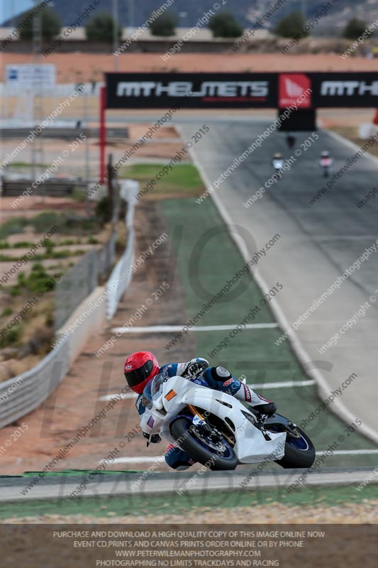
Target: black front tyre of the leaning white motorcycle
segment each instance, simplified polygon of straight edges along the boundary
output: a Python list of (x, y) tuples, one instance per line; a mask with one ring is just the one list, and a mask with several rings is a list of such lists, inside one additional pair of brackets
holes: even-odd
[(223, 471), (225, 469), (235, 469), (238, 465), (238, 457), (233, 448), (223, 440), (227, 446), (227, 457), (217, 455), (204, 446), (204, 441), (195, 437), (195, 430), (191, 430), (191, 421), (186, 418), (178, 418), (171, 426), (171, 434), (179, 442), (179, 446), (187, 452), (192, 459), (206, 465), (212, 471)]

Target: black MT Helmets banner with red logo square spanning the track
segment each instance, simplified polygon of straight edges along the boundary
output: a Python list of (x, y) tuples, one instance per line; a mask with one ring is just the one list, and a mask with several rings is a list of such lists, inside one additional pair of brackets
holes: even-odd
[(378, 72), (107, 73), (107, 109), (378, 107)]

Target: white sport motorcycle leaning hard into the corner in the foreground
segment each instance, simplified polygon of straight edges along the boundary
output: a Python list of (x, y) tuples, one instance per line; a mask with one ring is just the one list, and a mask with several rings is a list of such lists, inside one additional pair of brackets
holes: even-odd
[(165, 371), (143, 391), (143, 432), (159, 434), (211, 470), (275, 461), (284, 468), (310, 467), (311, 439), (288, 418), (251, 410), (240, 400)]

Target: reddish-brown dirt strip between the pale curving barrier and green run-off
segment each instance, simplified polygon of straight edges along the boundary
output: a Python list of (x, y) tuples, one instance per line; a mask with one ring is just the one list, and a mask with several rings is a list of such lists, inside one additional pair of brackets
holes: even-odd
[[(152, 241), (166, 231), (159, 202), (150, 200), (138, 205), (135, 229), (137, 231), (135, 258), (138, 258), (141, 251), (148, 249)], [(113, 335), (111, 328), (122, 326), (164, 280), (169, 283), (169, 290), (150, 305), (138, 325), (183, 324), (186, 321), (182, 290), (179, 281), (174, 278), (174, 263), (169, 258), (169, 252), (170, 242), (166, 239), (155, 250), (154, 255), (148, 257), (143, 266), (138, 268), (116, 316), (107, 324), (103, 333), (91, 338), (70, 373), (50, 398), (33, 413), (21, 418), (18, 423), (13, 423), (0, 431), (1, 447), (18, 424), (26, 422), (28, 425), (28, 430), (13, 442), (4, 454), (1, 454), (0, 474), (43, 469), (45, 464), (57, 455), (60, 448), (106, 406), (106, 401), (99, 398), (109, 394), (116, 395), (126, 386), (123, 363), (127, 354), (140, 349), (150, 350), (162, 363), (166, 362), (167, 352), (164, 346), (170, 339), (168, 334), (123, 335), (102, 356), (97, 357), (94, 353)], [(190, 337), (183, 339), (170, 351), (169, 358), (173, 361), (189, 359), (194, 348), (191, 342)], [(65, 459), (60, 460), (56, 469), (96, 467), (109, 455), (111, 449), (116, 447), (120, 439), (128, 432), (132, 432), (138, 424), (135, 400), (121, 400), (106, 414), (105, 420), (101, 420), (85, 439), (81, 439), (72, 447)], [(138, 433), (126, 444), (123, 455), (153, 456), (161, 455), (164, 450), (165, 445), (162, 443), (150, 447), (147, 451), (145, 440)], [(109, 464), (106, 467), (138, 469), (138, 464), (130, 466)], [(144, 468), (145, 464), (139, 467), (139, 469)], [(167, 469), (167, 466), (163, 464), (160, 469)]]

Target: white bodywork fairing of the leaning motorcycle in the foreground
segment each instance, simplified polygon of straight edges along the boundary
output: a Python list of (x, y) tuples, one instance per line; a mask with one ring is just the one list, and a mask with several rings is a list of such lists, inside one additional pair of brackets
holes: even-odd
[[(232, 395), (192, 383), (187, 378), (167, 378), (160, 386), (158, 395), (152, 401), (152, 408), (146, 408), (140, 426), (148, 434), (160, 434), (173, 444), (179, 443), (172, 437), (171, 422), (187, 405), (193, 405), (218, 416), (226, 424), (235, 427), (234, 451), (240, 464), (253, 464), (264, 459), (273, 461), (284, 457), (286, 432), (267, 432), (270, 439), (255, 427), (255, 415)], [(250, 420), (246, 417), (250, 416)], [(191, 420), (193, 416), (189, 416)], [(226, 420), (227, 418), (227, 420)]]

